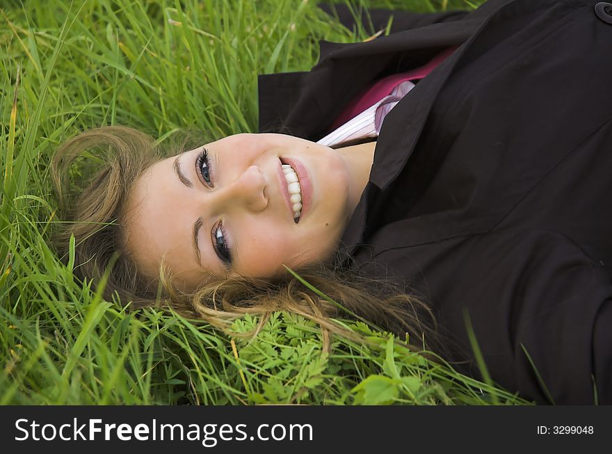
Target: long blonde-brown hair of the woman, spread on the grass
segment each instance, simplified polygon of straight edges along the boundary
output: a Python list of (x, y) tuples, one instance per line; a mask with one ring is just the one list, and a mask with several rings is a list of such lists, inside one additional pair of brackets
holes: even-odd
[(116, 294), (133, 308), (172, 308), (223, 330), (243, 314), (259, 314), (260, 329), (272, 311), (291, 311), (319, 323), (326, 345), (329, 332), (348, 334), (331, 319), (346, 315), (341, 305), (346, 313), (392, 331), (400, 339), (408, 334), (411, 343), (417, 345), (418, 340), (421, 349), (423, 339), (428, 346), (436, 343), (435, 317), (424, 302), (394, 282), (361, 276), (333, 260), (294, 270), (331, 302), (292, 273), (275, 279), (211, 275), (191, 293), (172, 285), (163, 264), (157, 279), (141, 274), (124, 248), (122, 209), (141, 173), (163, 157), (177, 154), (183, 145), (186, 140), (162, 147), (143, 132), (113, 126), (80, 133), (54, 155), (51, 177), (63, 222), (52, 243), (66, 256), (74, 235), (74, 273), (81, 280), (92, 279), (97, 284), (108, 270), (103, 291), (106, 300), (112, 301)]

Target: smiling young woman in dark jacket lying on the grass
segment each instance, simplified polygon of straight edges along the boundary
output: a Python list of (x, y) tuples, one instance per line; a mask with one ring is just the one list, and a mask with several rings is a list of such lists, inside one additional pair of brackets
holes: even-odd
[[(477, 378), (482, 355), (526, 398), (612, 403), (612, 5), (596, 3), (395, 13), (387, 36), (260, 76), (257, 134), (163, 151), (81, 133), (54, 159), (72, 222), (56, 242), (74, 234), (80, 277), (110, 268), (106, 298), (134, 307), (333, 332), (348, 312)], [(73, 204), (70, 164), (94, 150)]]

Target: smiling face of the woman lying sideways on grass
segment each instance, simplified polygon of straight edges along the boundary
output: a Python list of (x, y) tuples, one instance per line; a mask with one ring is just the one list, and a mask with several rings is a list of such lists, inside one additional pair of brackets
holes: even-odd
[(334, 149), (293, 136), (217, 140), (143, 172), (125, 209), (127, 248), (150, 277), (163, 257), (185, 289), (210, 273), (273, 277), (324, 260), (354, 209), (348, 174)]

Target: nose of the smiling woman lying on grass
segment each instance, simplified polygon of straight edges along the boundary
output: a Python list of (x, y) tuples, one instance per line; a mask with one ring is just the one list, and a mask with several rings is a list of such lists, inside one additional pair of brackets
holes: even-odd
[[(257, 165), (251, 165), (227, 186), (214, 193), (216, 209), (247, 209), (258, 213), (268, 206), (266, 177)], [(216, 196), (216, 197), (215, 197)]]

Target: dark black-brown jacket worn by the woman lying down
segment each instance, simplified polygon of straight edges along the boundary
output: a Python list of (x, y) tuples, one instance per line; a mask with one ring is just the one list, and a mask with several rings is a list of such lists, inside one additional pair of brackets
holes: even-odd
[(423, 297), (446, 359), (481, 378), (469, 318), (493, 380), (539, 403), (612, 403), (612, 5), (596, 3), (395, 13), (389, 36), (259, 79), (260, 131), (318, 140), (373, 80), (460, 46), (387, 115), (341, 257)]

